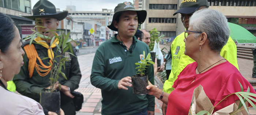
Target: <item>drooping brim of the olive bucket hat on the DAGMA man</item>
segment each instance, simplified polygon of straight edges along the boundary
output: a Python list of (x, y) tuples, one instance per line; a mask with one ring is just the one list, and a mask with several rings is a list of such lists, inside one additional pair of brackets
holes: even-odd
[[(138, 15), (138, 24), (142, 24), (142, 23), (146, 20), (147, 11), (145, 11), (145, 10), (127, 9), (127, 10), (124, 10), (124, 11), (136, 11), (136, 12), (137, 12), (137, 15)], [(120, 12), (114, 13), (112, 22), (111, 22), (110, 25), (108, 25), (108, 28), (109, 28), (109, 29), (111, 29), (111, 30), (113, 30), (113, 31), (118, 31), (118, 29), (114, 26), (113, 21), (116, 20), (117, 16), (118, 16), (120, 13), (124, 12), (124, 11), (120, 11)]]

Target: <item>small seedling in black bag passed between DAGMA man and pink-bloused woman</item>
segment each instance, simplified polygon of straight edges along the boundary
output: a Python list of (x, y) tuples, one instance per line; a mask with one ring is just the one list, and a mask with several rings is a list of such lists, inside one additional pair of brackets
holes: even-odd
[(146, 58), (145, 56), (145, 51), (143, 51), (143, 56), (141, 57), (140, 62), (135, 63), (135, 65), (138, 65), (138, 67), (135, 69), (138, 69), (138, 71), (136, 72), (136, 75), (132, 76), (133, 94), (145, 95), (149, 93), (149, 90), (146, 88), (148, 86), (148, 75), (146, 68), (147, 66), (150, 66), (150, 64), (155, 63), (150, 58), (150, 53), (147, 54)]

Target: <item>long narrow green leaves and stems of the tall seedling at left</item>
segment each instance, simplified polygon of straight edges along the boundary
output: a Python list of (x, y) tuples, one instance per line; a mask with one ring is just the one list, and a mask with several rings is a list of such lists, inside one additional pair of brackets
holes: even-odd
[[(57, 36), (55, 35), (53, 38), (50, 38), (48, 36), (44, 36), (41, 32), (37, 32), (35, 30), (36, 27), (41, 27), (44, 28), (43, 26), (35, 26), (34, 29), (31, 29), (33, 31), (33, 33), (28, 36), (27, 38), (24, 39), (25, 40), (29, 40), (30, 39), (30, 45), (32, 44), (33, 40), (35, 39), (36, 36), (44, 38), (46, 41), (50, 41), (50, 43), (46, 42), (46, 41), (40, 41), (40, 42), (46, 42), (49, 46), (52, 46), (54, 43), (55, 38), (57, 38), (59, 40), (59, 44), (56, 44), (57, 47), (57, 51), (53, 52), (54, 54), (52, 54), (52, 57), (45, 57), (44, 59), (50, 59), (50, 62), (48, 62), (48, 64), (51, 66), (50, 67), (50, 89), (49, 92), (53, 93), (55, 91), (55, 84), (57, 83), (58, 79), (59, 79), (59, 75), (61, 74), (65, 79), (67, 79), (66, 75), (61, 71), (62, 68), (65, 69), (65, 62), (69, 61), (70, 57), (65, 57), (63, 56), (63, 54), (68, 53), (72, 56), (75, 56), (73, 54), (73, 47), (70, 44), (70, 41), (74, 41), (71, 38), (69, 38), (69, 34), (67, 35), (65, 34), (61, 34), (61, 36)], [(60, 30), (50, 30), (47, 32), (52, 32), (52, 31), (60, 31)], [(34, 44), (39, 44), (37, 42), (33, 42)], [(43, 44), (40, 44), (43, 45)], [(67, 51), (70, 52), (67, 52)], [(55, 56), (54, 56), (55, 55)], [(59, 60), (59, 62), (56, 61), (56, 59)], [(61, 84), (59, 84), (59, 89), (61, 87)]]

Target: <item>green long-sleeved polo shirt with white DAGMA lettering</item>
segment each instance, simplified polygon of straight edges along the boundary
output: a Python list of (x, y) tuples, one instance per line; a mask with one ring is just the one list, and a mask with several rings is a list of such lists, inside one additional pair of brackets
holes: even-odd
[[(117, 35), (117, 34), (116, 34)], [(153, 95), (137, 95), (128, 90), (118, 89), (120, 79), (136, 74), (135, 65), (140, 61), (143, 51), (150, 53), (148, 46), (133, 37), (129, 50), (123, 42), (117, 40), (116, 35), (102, 43), (97, 49), (91, 70), (91, 84), (101, 89), (102, 115), (132, 115), (148, 107), (148, 111), (155, 110)], [(147, 68), (148, 80), (154, 84), (154, 68), (151, 64)]]

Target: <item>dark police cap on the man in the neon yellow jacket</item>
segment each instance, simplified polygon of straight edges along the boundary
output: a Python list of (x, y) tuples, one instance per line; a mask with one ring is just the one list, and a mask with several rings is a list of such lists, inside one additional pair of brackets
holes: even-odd
[(201, 6), (209, 7), (209, 3), (207, 0), (182, 0), (180, 4), (180, 9), (173, 14), (184, 13), (191, 14), (194, 13)]

